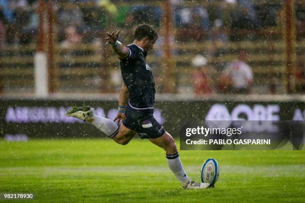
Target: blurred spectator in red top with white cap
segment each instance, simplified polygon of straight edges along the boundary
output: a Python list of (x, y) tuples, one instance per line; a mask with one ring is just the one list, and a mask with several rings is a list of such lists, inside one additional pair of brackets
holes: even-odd
[(192, 85), (194, 94), (209, 94), (211, 92), (211, 89), (208, 70), (206, 67), (206, 58), (202, 55), (196, 55), (192, 59), (192, 65), (195, 68), (194, 72), (192, 73)]

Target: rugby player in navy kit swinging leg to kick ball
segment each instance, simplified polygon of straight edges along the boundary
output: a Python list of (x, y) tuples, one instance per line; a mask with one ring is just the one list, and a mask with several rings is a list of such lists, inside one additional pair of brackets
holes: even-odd
[[(87, 121), (119, 144), (126, 145), (136, 135), (149, 139), (165, 150), (169, 169), (176, 176), (183, 189), (206, 189), (209, 183), (191, 181), (186, 175), (174, 139), (153, 117), (154, 80), (151, 67), (146, 62), (147, 53), (152, 50), (158, 38), (156, 31), (148, 24), (135, 31), (133, 44), (126, 47), (118, 41), (120, 31), (107, 33), (107, 43), (112, 45), (120, 59), (124, 83), (119, 98), (119, 112), (114, 121), (93, 114), (92, 108), (73, 107), (66, 116)], [(120, 127), (118, 123), (123, 121)]]

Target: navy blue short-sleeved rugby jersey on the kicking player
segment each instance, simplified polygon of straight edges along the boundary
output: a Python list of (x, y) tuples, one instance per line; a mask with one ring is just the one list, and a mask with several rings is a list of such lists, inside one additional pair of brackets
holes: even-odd
[(146, 62), (147, 53), (137, 46), (127, 46), (129, 55), (120, 61), (124, 83), (129, 92), (130, 105), (135, 108), (152, 108), (154, 80), (151, 67)]

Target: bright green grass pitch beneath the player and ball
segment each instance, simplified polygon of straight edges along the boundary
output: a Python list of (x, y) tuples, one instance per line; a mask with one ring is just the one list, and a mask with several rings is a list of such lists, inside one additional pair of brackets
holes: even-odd
[(182, 190), (163, 150), (148, 140), (0, 141), (0, 193), (33, 193), (31, 203), (305, 203), (305, 151), (179, 153), (196, 181), (204, 160), (215, 158), (215, 188)]

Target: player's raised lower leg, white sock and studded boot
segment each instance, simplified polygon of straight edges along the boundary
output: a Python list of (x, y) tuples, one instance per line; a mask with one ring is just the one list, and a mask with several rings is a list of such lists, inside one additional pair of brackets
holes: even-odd
[(87, 121), (111, 138), (113, 138), (119, 131), (119, 127), (114, 121), (108, 118), (94, 115), (90, 106), (72, 106), (72, 109), (68, 110), (65, 115)]

